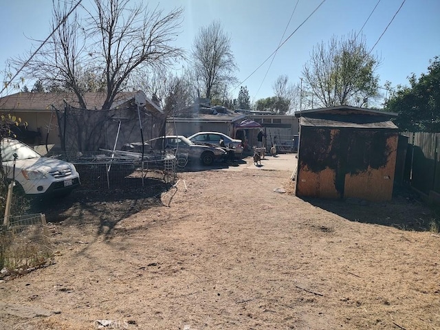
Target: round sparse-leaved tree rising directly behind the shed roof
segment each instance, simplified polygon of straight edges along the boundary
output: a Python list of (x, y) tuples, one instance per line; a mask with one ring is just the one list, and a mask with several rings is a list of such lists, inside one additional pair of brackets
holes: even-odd
[(305, 88), (324, 107), (336, 105), (368, 106), (369, 99), (378, 95), (380, 64), (371, 55), (363, 36), (354, 33), (313, 48), (311, 58), (303, 67)]

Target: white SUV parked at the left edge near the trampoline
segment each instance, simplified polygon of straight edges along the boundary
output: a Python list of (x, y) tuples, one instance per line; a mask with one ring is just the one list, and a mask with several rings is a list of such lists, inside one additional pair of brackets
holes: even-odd
[(0, 148), (5, 176), (8, 180), (14, 176), (26, 195), (67, 195), (80, 185), (74, 164), (42, 157), (30, 146), (9, 137), (1, 140)]

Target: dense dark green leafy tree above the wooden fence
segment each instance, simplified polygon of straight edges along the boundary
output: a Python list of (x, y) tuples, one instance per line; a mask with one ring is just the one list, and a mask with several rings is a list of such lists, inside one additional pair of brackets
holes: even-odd
[(440, 57), (429, 61), (428, 73), (409, 77), (410, 87), (397, 87), (386, 102), (386, 111), (399, 115), (401, 131), (440, 132)]

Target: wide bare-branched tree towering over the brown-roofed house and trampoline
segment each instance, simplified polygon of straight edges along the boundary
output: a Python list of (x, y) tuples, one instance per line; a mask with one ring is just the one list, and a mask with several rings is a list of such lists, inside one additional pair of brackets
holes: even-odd
[[(24, 72), (52, 90), (72, 91), (87, 108), (86, 91), (104, 91), (109, 109), (137, 70), (170, 65), (183, 55), (173, 47), (183, 9), (168, 14), (130, 0), (94, 0), (94, 7), (70, 11), (68, 2), (53, 1), (52, 40), (26, 65)], [(21, 65), (23, 59), (17, 59)]]

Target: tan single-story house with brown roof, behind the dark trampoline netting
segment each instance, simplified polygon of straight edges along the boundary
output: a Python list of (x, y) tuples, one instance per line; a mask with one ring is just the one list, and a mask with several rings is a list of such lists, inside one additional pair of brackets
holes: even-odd
[(104, 93), (85, 93), (87, 109), (80, 109), (70, 93), (20, 92), (0, 98), (0, 113), (26, 122), (21, 131), (36, 132), (28, 144), (52, 144), (64, 151), (120, 148), (164, 134), (162, 109), (144, 92), (122, 92), (111, 109), (101, 110)]

